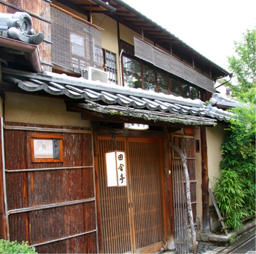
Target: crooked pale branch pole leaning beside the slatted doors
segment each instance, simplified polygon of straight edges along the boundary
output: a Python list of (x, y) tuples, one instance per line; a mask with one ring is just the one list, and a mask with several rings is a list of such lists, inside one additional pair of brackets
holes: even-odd
[(169, 145), (181, 157), (182, 167), (183, 167), (183, 171), (185, 174), (185, 180), (186, 180), (186, 198), (187, 198), (188, 217), (190, 220), (193, 253), (197, 253), (196, 231), (194, 229), (194, 220), (193, 220), (193, 211), (192, 211), (192, 205), (191, 205), (190, 180), (189, 180), (189, 175), (188, 175), (187, 159), (186, 159), (185, 154), (181, 151), (180, 147), (178, 147), (174, 142), (169, 142)]

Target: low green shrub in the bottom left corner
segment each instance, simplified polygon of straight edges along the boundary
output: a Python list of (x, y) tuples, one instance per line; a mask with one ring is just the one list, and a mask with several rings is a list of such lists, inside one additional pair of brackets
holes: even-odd
[(7, 241), (0, 239), (0, 253), (36, 253), (34, 247), (28, 247), (28, 243), (22, 241), (18, 243), (17, 241)]

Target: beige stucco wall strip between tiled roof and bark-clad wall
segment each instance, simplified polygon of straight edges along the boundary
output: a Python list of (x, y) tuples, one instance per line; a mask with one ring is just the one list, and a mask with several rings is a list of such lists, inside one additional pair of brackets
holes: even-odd
[(67, 112), (65, 102), (56, 98), (6, 92), (4, 109), (8, 122), (91, 127), (81, 113)]

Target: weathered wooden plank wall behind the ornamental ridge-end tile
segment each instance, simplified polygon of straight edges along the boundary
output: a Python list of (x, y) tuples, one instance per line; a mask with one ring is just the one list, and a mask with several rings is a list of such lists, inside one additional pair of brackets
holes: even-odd
[[(51, 32), (50, 32), (50, 1), (46, 0), (4, 0), (7, 4), (0, 3), (0, 12), (15, 13), (28, 11), (31, 15), (33, 28), (36, 33), (44, 34), (44, 41), (38, 45), (42, 58), (42, 66), (46, 71), (52, 71)], [(18, 8), (15, 8), (15, 6)], [(21, 9), (21, 10), (20, 10)], [(40, 18), (41, 17), (41, 18)]]

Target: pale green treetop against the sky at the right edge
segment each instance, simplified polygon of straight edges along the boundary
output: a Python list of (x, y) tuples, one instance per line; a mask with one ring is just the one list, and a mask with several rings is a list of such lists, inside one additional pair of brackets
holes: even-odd
[(230, 85), (232, 96), (255, 104), (255, 29), (247, 30), (242, 41), (235, 41), (235, 55), (228, 57), (229, 69), (238, 85)]

